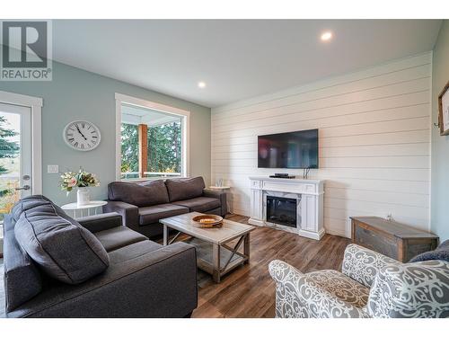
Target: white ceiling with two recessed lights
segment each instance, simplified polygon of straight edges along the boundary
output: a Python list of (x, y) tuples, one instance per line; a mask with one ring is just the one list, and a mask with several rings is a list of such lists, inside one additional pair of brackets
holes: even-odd
[[(440, 20), (56, 20), (62, 63), (207, 107), (433, 49)], [(322, 31), (334, 38), (323, 43)], [(207, 84), (198, 88), (198, 81)]]

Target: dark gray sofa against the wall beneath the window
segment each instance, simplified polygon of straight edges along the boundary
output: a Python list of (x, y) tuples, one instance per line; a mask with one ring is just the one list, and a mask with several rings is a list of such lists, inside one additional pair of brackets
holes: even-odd
[(123, 224), (148, 237), (161, 235), (159, 220), (189, 212), (225, 217), (225, 191), (205, 189), (202, 177), (151, 182), (110, 182), (103, 212), (117, 212)]

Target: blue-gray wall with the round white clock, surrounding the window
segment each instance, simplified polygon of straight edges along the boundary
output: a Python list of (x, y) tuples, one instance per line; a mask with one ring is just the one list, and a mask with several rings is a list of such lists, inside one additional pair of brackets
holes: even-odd
[[(57, 62), (51, 82), (0, 82), (0, 90), (43, 98), (43, 193), (59, 204), (75, 201), (75, 193), (67, 198), (60, 191), (59, 174), (47, 173), (48, 164), (58, 164), (60, 172), (82, 165), (96, 173), (101, 187), (92, 188), (92, 198), (106, 198), (107, 185), (115, 179), (115, 93), (190, 111), (190, 175), (203, 175), (210, 182), (209, 108)], [(90, 152), (75, 151), (62, 138), (66, 124), (78, 119), (90, 120), (101, 130), (101, 144)]]

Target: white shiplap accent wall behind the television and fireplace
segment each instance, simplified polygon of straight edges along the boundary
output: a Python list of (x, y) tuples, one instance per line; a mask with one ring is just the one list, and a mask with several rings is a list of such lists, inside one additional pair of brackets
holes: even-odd
[(327, 233), (350, 236), (350, 216), (391, 214), (428, 230), (431, 52), (212, 110), (212, 182), (232, 186), (233, 212), (250, 215), (257, 136), (319, 129)]

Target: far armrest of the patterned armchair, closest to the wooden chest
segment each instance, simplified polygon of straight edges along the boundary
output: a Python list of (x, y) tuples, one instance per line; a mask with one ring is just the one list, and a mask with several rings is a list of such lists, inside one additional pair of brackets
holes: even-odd
[(371, 288), (379, 270), (390, 264), (401, 262), (357, 244), (349, 244), (345, 250), (341, 271), (365, 287)]

